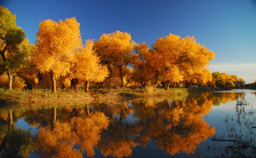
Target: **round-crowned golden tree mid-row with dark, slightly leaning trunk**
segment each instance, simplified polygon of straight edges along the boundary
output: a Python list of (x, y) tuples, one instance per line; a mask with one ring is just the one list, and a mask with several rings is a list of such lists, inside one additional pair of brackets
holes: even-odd
[(127, 32), (116, 31), (103, 34), (94, 44), (94, 50), (100, 57), (102, 63), (110, 67), (118, 67), (121, 87), (124, 87), (124, 67), (132, 62), (132, 54), (136, 43)]

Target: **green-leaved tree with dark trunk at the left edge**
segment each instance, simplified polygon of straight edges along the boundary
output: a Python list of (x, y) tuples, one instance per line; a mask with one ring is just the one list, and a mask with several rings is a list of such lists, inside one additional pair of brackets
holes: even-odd
[(19, 50), (19, 44), (25, 38), (25, 32), (21, 27), (17, 27), (15, 20), (15, 14), (13, 15), (7, 8), (0, 6), (0, 54), (8, 73), (10, 91), (14, 68), (21, 64), (17, 60), (22, 61), (25, 57), (25, 54)]

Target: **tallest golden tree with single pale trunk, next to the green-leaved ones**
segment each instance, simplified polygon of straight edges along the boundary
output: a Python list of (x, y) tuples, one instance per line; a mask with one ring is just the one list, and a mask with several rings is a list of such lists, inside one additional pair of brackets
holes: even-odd
[(53, 92), (56, 92), (55, 78), (70, 71), (74, 53), (82, 46), (79, 27), (75, 18), (59, 22), (48, 19), (39, 23), (33, 62), (40, 72), (50, 72)]

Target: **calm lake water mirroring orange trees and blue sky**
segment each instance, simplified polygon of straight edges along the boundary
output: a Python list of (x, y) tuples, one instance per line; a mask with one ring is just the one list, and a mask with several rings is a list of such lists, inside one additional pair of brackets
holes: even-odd
[(251, 158), (256, 91), (0, 111), (0, 157)]

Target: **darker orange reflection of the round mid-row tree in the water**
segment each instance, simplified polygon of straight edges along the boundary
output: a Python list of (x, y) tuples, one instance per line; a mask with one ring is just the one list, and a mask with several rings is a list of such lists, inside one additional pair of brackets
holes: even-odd
[(132, 136), (138, 136), (140, 129), (136, 125), (126, 121), (126, 117), (133, 112), (133, 108), (127, 103), (105, 104), (103, 110), (113, 117), (115, 114), (119, 119), (113, 119), (108, 130), (102, 133), (99, 148), (102, 155), (122, 158), (132, 153), (132, 148), (137, 146)]

